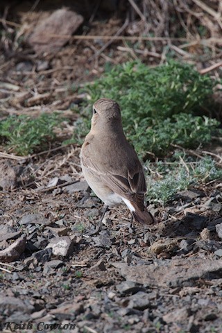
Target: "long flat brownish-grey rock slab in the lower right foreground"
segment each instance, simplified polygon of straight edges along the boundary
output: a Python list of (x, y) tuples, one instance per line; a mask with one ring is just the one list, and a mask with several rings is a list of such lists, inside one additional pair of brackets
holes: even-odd
[(192, 285), (199, 278), (210, 280), (221, 278), (222, 259), (186, 258), (161, 261), (160, 264), (128, 266), (114, 263), (126, 280), (153, 287), (180, 287), (181, 284)]

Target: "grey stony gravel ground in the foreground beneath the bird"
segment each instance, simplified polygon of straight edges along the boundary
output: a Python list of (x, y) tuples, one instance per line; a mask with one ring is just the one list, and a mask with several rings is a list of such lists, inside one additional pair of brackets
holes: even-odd
[(221, 184), (151, 205), (160, 222), (149, 228), (110, 210), (94, 233), (103, 206), (70, 176), (78, 153), (32, 187), (43, 157), (1, 162), (1, 332), (28, 321), (16, 332), (221, 332)]

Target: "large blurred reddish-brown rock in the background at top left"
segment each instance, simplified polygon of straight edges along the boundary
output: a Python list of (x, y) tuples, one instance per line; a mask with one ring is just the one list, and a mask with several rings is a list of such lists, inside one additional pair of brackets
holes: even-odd
[[(71, 34), (82, 23), (83, 17), (76, 12), (66, 8), (56, 10), (35, 26), (33, 33), (28, 37), (28, 43), (33, 46), (36, 53), (55, 53), (68, 42)], [(53, 36), (58, 34), (63, 37)]]

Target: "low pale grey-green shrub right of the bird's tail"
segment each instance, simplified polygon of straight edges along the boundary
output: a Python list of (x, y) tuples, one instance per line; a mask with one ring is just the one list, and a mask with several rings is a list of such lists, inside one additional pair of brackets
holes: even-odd
[[(212, 157), (195, 160), (189, 156), (174, 154), (173, 162), (146, 162), (147, 199), (165, 205), (178, 191), (194, 187), (203, 182), (222, 178), (222, 169), (216, 167)], [(171, 158), (171, 161), (173, 160)]]

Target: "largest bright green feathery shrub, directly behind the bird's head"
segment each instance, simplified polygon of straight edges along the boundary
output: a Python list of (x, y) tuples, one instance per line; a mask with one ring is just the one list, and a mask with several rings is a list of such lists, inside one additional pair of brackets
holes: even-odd
[[(219, 122), (203, 117), (216, 83), (190, 65), (169, 61), (150, 68), (127, 62), (87, 85), (92, 103), (101, 97), (117, 101), (122, 110), (123, 129), (140, 157), (152, 152), (164, 156), (171, 144), (196, 148), (211, 141)], [(92, 103), (83, 108), (76, 123), (78, 142), (89, 130)], [(212, 106), (211, 106), (212, 108)]]

